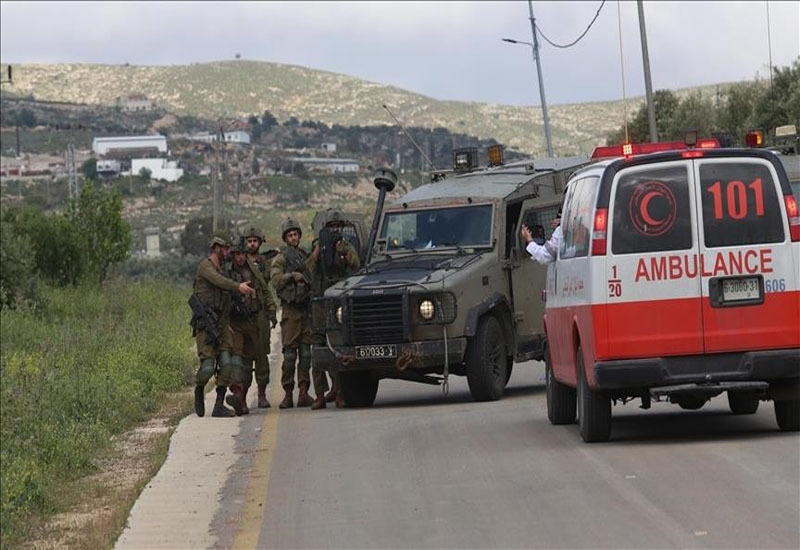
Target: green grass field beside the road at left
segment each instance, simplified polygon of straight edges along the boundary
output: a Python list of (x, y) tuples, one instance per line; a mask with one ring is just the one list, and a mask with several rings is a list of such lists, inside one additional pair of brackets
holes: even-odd
[(191, 379), (188, 286), (50, 289), (36, 314), (0, 312), (0, 546), (63, 505), (110, 436)]

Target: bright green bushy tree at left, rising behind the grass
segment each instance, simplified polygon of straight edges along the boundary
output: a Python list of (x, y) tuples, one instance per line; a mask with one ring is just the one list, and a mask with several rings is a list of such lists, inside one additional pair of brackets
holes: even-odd
[(95, 189), (86, 182), (77, 200), (70, 202), (67, 217), (77, 231), (87, 275), (103, 282), (109, 266), (125, 260), (131, 248), (119, 189)]

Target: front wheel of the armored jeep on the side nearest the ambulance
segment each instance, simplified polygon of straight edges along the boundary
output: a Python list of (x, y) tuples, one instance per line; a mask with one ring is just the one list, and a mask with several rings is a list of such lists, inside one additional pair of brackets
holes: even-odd
[(500, 323), (483, 317), (467, 350), (467, 382), (475, 401), (497, 401), (503, 396), (508, 363)]

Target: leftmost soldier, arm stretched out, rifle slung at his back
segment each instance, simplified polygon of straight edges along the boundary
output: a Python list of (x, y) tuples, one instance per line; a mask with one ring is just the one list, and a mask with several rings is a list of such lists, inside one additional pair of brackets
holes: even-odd
[(223, 262), (228, 256), (230, 241), (217, 233), (209, 242), (211, 253), (200, 261), (194, 281), (192, 305), (192, 327), (196, 337), (197, 357), (200, 367), (195, 374), (194, 410), (197, 416), (205, 415), (203, 390), (214, 375), (217, 365), (217, 400), (211, 416), (233, 416), (225, 407), (225, 393), (230, 385), (233, 395), (228, 404), (239, 414), (244, 412), (244, 395), (241, 386), (241, 359), (231, 355), (231, 331), (229, 330), (230, 292), (251, 295), (255, 290), (246, 282), (237, 283), (223, 274)]

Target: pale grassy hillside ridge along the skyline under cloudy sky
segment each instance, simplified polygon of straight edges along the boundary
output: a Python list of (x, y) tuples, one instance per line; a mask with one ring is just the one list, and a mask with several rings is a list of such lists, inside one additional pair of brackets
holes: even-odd
[[(388, 104), (408, 126), (446, 127), (494, 138), (541, 155), (541, 110), (492, 103), (439, 101), (393, 86), (325, 71), (255, 61), (181, 66), (15, 65), (4, 93), (38, 100), (113, 105), (117, 96), (144, 93), (171, 112), (216, 119), (271, 111), (329, 125), (390, 124)], [(629, 100), (633, 112), (642, 98)], [(551, 105), (553, 144), (559, 155), (587, 153), (619, 127), (622, 102)]]

